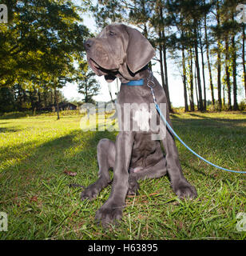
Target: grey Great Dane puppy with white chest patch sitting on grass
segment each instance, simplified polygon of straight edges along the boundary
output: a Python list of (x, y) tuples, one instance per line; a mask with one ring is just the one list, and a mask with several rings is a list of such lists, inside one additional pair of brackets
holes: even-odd
[[(121, 90), (117, 97), (117, 104), (121, 113), (124, 113), (124, 104), (141, 103), (150, 106), (153, 103), (153, 94), (149, 86), (153, 87), (157, 103), (165, 103), (167, 98), (162, 86), (153, 77), (148, 69), (148, 63), (155, 55), (155, 50), (149, 41), (138, 31), (123, 24), (106, 26), (96, 38), (90, 38), (84, 43), (89, 66), (98, 76), (105, 76), (107, 82), (115, 78), (121, 80)], [(143, 85), (131, 85), (130, 81), (143, 79)], [(148, 86), (147, 86), (148, 85)], [(143, 108), (141, 108), (143, 110)], [(156, 111), (156, 110), (152, 110)], [(161, 142), (165, 148), (165, 154), (161, 150), (160, 141), (153, 139), (152, 130), (141, 127), (141, 120), (137, 119), (136, 111), (131, 109), (130, 122), (126, 124), (133, 127), (137, 123), (139, 130), (121, 129), (116, 142), (107, 138), (101, 139), (97, 145), (97, 162), (99, 166), (99, 178), (97, 182), (89, 185), (81, 194), (81, 199), (90, 200), (109, 185), (109, 169), (113, 169), (113, 186), (108, 200), (96, 213), (97, 222), (102, 225), (114, 223), (121, 219), (127, 194), (136, 194), (138, 179), (158, 178), (169, 174), (173, 191), (180, 198), (195, 198), (196, 190), (185, 179), (179, 162), (177, 147), (173, 134), (162, 124), (160, 127), (165, 132), (165, 138)], [(146, 110), (149, 114), (149, 110)], [(121, 127), (125, 127), (124, 114), (119, 121)], [(155, 113), (156, 114), (156, 113)], [(146, 115), (145, 115), (146, 116)], [(171, 125), (169, 109), (166, 108), (166, 119)], [(129, 120), (129, 118), (128, 118)], [(160, 122), (157, 116), (157, 122)]]

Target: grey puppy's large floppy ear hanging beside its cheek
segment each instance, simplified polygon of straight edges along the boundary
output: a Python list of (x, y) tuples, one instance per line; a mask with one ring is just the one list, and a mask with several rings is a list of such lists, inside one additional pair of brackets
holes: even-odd
[(150, 62), (155, 56), (155, 50), (138, 30), (126, 26), (126, 32), (129, 35), (126, 64), (134, 74)]

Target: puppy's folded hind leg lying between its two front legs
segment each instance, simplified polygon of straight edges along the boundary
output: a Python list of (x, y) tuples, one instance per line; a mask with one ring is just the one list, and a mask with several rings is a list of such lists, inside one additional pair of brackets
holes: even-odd
[(137, 190), (139, 189), (139, 185), (137, 183), (137, 180), (145, 178), (159, 178), (161, 176), (164, 176), (165, 174), (167, 174), (165, 157), (161, 158), (161, 161), (157, 162), (157, 164), (154, 166), (150, 166), (136, 172), (130, 172), (128, 194), (138, 194)]

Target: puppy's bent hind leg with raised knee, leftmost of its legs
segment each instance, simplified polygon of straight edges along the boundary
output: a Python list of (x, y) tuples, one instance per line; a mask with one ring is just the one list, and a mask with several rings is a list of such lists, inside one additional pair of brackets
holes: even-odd
[(85, 200), (86, 198), (92, 200), (93, 198), (96, 198), (97, 194), (109, 185), (109, 168), (114, 167), (115, 153), (115, 144), (109, 139), (103, 138), (97, 144), (97, 162), (99, 166), (98, 179), (97, 182), (89, 185), (81, 193), (81, 200)]

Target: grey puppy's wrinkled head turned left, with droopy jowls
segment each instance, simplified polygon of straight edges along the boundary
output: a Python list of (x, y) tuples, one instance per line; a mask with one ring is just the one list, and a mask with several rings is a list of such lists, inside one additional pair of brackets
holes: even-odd
[(155, 55), (153, 46), (138, 30), (123, 24), (106, 26), (84, 45), (89, 66), (95, 74), (105, 75), (108, 82), (116, 76), (134, 80)]

